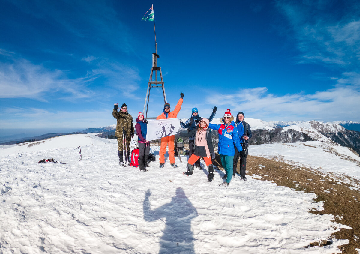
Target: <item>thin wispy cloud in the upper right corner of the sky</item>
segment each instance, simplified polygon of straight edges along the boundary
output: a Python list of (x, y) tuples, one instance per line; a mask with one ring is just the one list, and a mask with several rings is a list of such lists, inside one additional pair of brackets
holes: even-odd
[[(299, 62), (338, 65), (359, 71), (360, 3), (349, 0), (337, 9), (337, 1), (279, 0), (303, 53)], [(292, 33), (289, 33), (292, 34)]]

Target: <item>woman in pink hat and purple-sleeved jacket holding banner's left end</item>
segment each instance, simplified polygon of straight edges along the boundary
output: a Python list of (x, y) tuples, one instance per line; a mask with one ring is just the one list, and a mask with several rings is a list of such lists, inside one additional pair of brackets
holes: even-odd
[(145, 140), (146, 133), (148, 131), (147, 121), (144, 119), (144, 114), (139, 112), (138, 118), (135, 124), (136, 135), (139, 136), (139, 171), (148, 172), (145, 167), (148, 167), (148, 158), (150, 153), (150, 142)]

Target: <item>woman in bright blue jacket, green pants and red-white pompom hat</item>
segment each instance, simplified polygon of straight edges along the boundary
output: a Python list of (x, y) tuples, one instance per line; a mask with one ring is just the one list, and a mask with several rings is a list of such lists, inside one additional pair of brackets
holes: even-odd
[(229, 186), (231, 178), (233, 177), (233, 162), (235, 149), (234, 145), (240, 153), (243, 153), (243, 148), (240, 144), (238, 130), (235, 127), (234, 117), (231, 115), (230, 109), (226, 110), (224, 117), (220, 120), (222, 124), (209, 124), (209, 128), (219, 132), (219, 143), (217, 153), (220, 154), (222, 167), (225, 169), (225, 182), (220, 183), (222, 186)]

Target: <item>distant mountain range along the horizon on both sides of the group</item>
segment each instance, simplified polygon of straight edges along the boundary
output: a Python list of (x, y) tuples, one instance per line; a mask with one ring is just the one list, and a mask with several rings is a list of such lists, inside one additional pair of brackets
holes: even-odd
[[(219, 124), (221, 118), (215, 118), (211, 123)], [(185, 122), (186, 119), (183, 119)], [(255, 118), (245, 118), (250, 124), (253, 137), (249, 141), (255, 144), (292, 143), (298, 141), (316, 140), (332, 144), (340, 144), (354, 149), (360, 154), (360, 123), (351, 121), (318, 122), (318, 121), (270, 121), (265, 122)], [(134, 123), (135, 125), (135, 123)], [(99, 133), (99, 137), (115, 135), (116, 124), (88, 128), (76, 133)], [(40, 136), (26, 137), (19, 140), (3, 142), (0, 145), (17, 144), (35, 140), (44, 140), (50, 137), (75, 134), (73, 133), (47, 133)]]

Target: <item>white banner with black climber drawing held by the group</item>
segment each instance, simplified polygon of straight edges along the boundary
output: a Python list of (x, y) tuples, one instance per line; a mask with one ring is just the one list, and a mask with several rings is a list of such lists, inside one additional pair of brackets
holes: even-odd
[(175, 135), (179, 131), (180, 120), (177, 118), (149, 120), (146, 140), (161, 139), (162, 137)]

